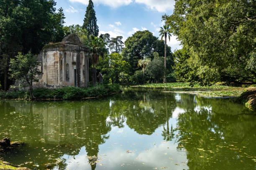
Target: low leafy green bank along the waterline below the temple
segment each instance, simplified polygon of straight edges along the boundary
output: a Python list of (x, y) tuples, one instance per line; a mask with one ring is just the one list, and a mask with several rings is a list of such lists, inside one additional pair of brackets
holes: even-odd
[[(37, 88), (33, 90), (36, 100), (61, 99), (61, 100), (80, 100), (86, 97), (102, 97), (112, 93), (120, 92), (119, 85), (97, 85), (95, 87), (79, 88), (64, 87), (54, 90)], [(1, 92), (0, 99), (28, 99), (29, 91), (18, 90), (14, 92)]]

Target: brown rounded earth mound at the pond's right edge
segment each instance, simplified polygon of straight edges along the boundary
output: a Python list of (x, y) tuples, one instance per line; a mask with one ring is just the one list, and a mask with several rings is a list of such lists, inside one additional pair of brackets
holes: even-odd
[(256, 110), (256, 88), (249, 88), (246, 92), (243, 92), (238, 98), (246, 107), (252, 110)]

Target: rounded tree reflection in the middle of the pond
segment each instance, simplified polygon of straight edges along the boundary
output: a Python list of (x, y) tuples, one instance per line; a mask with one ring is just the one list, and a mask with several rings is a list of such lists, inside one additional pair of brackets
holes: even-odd
[(126, 124), (138, 134), (151, 135), (172, 117), (172, 111), (175, 109), (174, 95), (165, 98), (162, 94), (153, 92), (133, 92), (129, 95), (131, 97), (126, 97), (124, 100), (112, 101), (110, 117), (124, 115)]

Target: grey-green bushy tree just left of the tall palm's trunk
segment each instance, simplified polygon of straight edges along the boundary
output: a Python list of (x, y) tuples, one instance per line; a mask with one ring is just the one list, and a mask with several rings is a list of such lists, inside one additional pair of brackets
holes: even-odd
[(165, 72), (163, 57), (159, 57), (157, 52), (154, 52), (154, 59), (146, 67), (146, 72), (150, 77), (156, 80), (156, 83), (162, 79)]

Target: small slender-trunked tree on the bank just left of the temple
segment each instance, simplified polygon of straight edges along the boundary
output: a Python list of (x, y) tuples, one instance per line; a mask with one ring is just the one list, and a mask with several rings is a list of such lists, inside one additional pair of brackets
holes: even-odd
[(15, 59), (10, 60), (10, 78), (28, 83), (30, 97), (33, 96), (33, 82), (38, 82), (36, 75), (42, 74), (38, 69), (40, 65), (41, 63), (37, 61), (37, 57), (31, 52), (26, 55), (19, 52)]

